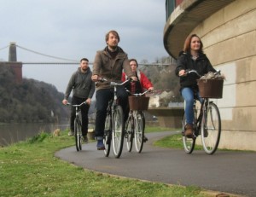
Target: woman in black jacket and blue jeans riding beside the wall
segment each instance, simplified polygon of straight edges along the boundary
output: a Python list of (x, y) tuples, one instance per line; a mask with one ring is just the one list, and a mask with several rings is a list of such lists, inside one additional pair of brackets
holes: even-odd
[(197, 99), (201, 101), (201, 98), (196, 82), (196, 79), (199, 77), (194, 74), (186, 76), (185, 70), (187, 69), (194, 69), (201, 76), (207, 72), (216, 72), (211, 62), (208, 60), (207, 55), (203, 53), (203, 43), (201, 42), (201, 38), (196, 34), (189, 35), (188, 38), (186, 38), (183, 51), (180, 52), (177, 58), (177, 67), (175, 70), (176, 75), (180, 77), (180, 91), (186, 103), (185, 117), (187, 124), (185, 125), (184, 135), (192, 137), (195, 118), (193, 111), (194, 92), (196, 92), (198, 96)]

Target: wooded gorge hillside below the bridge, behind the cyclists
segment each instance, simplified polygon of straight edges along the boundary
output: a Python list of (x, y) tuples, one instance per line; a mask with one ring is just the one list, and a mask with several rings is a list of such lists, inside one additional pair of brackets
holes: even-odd
[[(156, 61), (168, 61), (168, 57)], [(169, 61), (168, 66), (139, 67), (151, 82), (155, 90), (172, 91), (170, 101), (183, 101), (179, 93), (179, 81), (174, 74), (176, 65)], [(0, 67), (0, 123), (9, 122), (56, 122), (69, 118), (69, 107), (61, 101), (63, 93), (54, 85), (35, 79), (23, 78), (21, 84), (15, 83), (15, 75), (8, 66)], [(169, 100), (167, 102), (169, 102)], [(95, 111), (95, 101), (90, 106), (90, 119)]]

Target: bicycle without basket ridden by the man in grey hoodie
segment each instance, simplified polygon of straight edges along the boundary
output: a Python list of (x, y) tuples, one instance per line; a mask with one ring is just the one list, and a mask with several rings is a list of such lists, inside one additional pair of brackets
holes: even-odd
[(67, 105), (72, 105), (73, 107), (76, 107), (76, 117), (74, 119), (74, 136), (75, 136), (75, 142), (76, 142), (76, 149), (77, 151), (82, 150), (82, 142), (84, 140), (84, 137), (82, 136), (82, 114), (80, 107), (82, 105), (87, 105), (87, 103), (84, 101), (79, 105), (72, 105), (71, 103), (67, 102)]

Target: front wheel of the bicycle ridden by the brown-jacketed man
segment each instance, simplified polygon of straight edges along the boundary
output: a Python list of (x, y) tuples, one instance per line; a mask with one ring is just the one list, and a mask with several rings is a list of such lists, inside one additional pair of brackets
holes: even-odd
[(122, 107), (116, 106), (113, 113), (112, 119), (113, 131), (112, 131), (112, 143), (113, 143), (113, 154), (115, 158), (119, 158), (122, 154), (124, 144), (124, 114)]

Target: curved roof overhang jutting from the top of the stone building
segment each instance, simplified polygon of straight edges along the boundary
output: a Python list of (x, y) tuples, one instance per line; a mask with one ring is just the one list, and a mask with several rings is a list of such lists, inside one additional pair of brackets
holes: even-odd
[(184, 0), (169, 16), (164, 29), (164, 46), (177, 59), (189, 33), (201, 21), (235, 0)]

